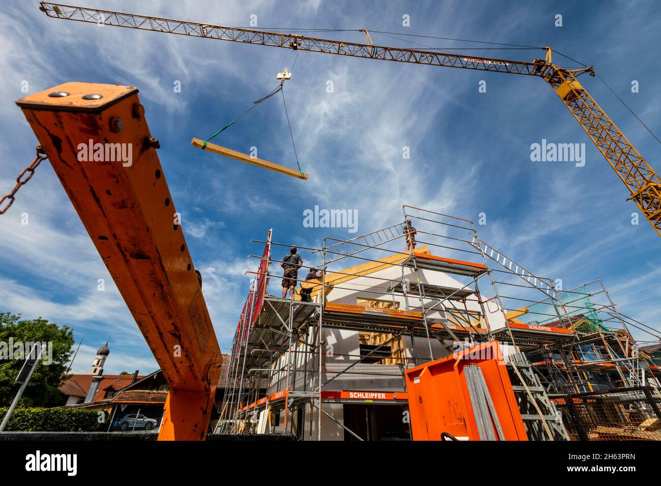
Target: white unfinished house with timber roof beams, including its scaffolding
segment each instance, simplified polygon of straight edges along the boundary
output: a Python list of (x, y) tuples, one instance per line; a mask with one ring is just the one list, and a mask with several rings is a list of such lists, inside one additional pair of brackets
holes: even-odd
[[(226, 380), (226, 386), (234, 385), (229, 386), (219, 430), (243, 434), (282, 429), (301, 439), (321, 440), (321, 429), (330, 427), (338, 428), (334, 437), (350, 433), (360, 438), (350, 430), (356, 426), (354, 415), (349, 416), (350, 425), (329, 414), (337, 407), (322, 410), (321, 404), (407, 407), (403, 377), (408, 366), (426, 356), (450, 357), (457, 348), (486, 341), (505, 344), (508, 353), (512, 347), (525, 353), (525, 362), (520, 362), (525, 376), (517, 377), (521, 384), (513, 384), (520, 405), (530, 393), (581, 391), (591, 382), (631, 385), (641, 375), (661, 379), (657, 366), (642, 372), (631, 351), (631, 319), (617, 312), (600, 280), (563, 292), (555, 288), (554, 279), (536, 276), (486, 245), (469, 220), (411, 206), (404, 206), (404, 217), (405, 223), (383, 230), (346, 241), (325, 237), (322, 247), (305, 248), (321, 259), (311, 264), (325, 270), (313, 284), (313, 298), (319, 302), (265, 295), (268, 278), (280, 278), (278, 268), (269, 271), (271, 264), (282, 263), (272, 258), (272, 245), (291, 244), (274, 243), (271, 231), (266, 241), (255, 240), (266, 247), (260, 255), (251, 255), (260, 259), (260, 266), (235, 335)], [(404, 252), (402, 228), (409, 218), (420, 223), (420, 246)], [(432, 255), (432, 247), (443, 249), (445, 257)], [(344, 259), (350, 262), (344, 263), (346, 268), (330, 268)], [(301, 287), (305, 285), (301, 281)], [(259, 309), (256, 319), (245, 319), (251, 308)], [(617, 329), (609, 327), (613, 323)], [(346, 343), (333, 351), (334, 339)], [(592, 358), (584, 356), (588, 352), (603, 356), (603, 362), (590, 362)], [(373, 407), (363, 408), (377, 413)], [(284, 411), (284, 416), (273, 421), (275, 416), (253, 414), (264, 409)], [(547, 430), (535, 424), (543, 423), (540, 415), (547, 422), (555, 420), (553, 407), (524, 409), (524, 421), (539, 432), (536, 440), (548, 438)], [(396, 415), (391, 411), (383, 407), (378, 413), (391, 420)]]

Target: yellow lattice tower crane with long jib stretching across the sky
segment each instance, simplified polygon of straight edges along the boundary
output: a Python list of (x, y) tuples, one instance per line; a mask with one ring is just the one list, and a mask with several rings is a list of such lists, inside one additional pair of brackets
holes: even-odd
[(587, 72), (594, 75), (592, 67), (570, 71), (554, 65), (551, 62), (551, 48), (549, 47), (543, 48), (547, 51), (545, 59), (537, 59), (531, 62), (512, 61), (479, 56), (461, 56), (433, 50), (375, 46), (371, 42), (366, 29), (360, 31), (366, 33), (369, 43), (360, 44), (313, 38), (300, 34), (267, 32), (265, 30), (73, 7), (45, 1), (40, 2), (39, 8), (48, 17), (56, 19), (77, 20), (79, 22), (153, 30), (155, 32), (229, 40), (293, 50), (323, 52), (354, 58), (460, 67), (462, 69), (541, 77), (553, 87), (560, 99), (572, 112), (574, 118), (629, 189), (629, 199), (637, 204), (642, 214), (652, 224), (658, 235), (661, 236), (661, 181), (658, 175), (577, 81), (576, 77), (582, 73)]

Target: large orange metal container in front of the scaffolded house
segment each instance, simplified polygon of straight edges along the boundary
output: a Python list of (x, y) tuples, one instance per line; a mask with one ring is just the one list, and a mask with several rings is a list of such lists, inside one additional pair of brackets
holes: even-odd
[(465, 368), (471, 364), (482, 371), (505, 440), (528, 440), (497, 341), (407, 370), (413, 440), (441, 440), (443, 432), (459, 440), (486, 439), (479, 435), (466, 381)]

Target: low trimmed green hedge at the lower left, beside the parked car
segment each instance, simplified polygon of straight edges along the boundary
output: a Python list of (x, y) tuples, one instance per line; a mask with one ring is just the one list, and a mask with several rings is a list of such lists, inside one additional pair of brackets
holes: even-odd
[[(0, 407), (0, 419), (7, 407)], [(108, 413), (105, 423), (98, 423), (98, 410), (17, 408), (11, 414), (7, 431), (13, 432), (104, 432), (108, 430)]]

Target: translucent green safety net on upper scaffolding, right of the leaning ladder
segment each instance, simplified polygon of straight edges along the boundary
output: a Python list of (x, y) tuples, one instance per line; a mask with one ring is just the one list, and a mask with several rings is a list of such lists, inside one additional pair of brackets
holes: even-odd
[[(562, 319), (560, 319), (559, 315)], [(570, 317), (572, 327), (576, 332), (594, 333), (598, 330), (606, 333), (613, 332), (603, 325), (603, 321), (594, 309), (592, 300), (590, 300), (590, 296), (586, 293), (585, 287), (563, 292), (560, 295), (559, 302), (557, 300), (547, 299), (537, 304), (529, 305), (528, 312), (517, 317), (517, 319), (524, 324), (566, 327), (566, 315)]]

